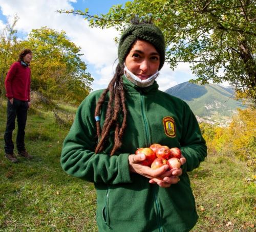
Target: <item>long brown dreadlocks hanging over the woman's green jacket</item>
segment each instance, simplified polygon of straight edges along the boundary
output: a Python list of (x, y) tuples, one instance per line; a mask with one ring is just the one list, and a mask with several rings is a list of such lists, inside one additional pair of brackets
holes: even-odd
[[(109, 102), (106, 108), (105, 121), (102, 127), (102, 131), (100, 129), (100, 122), (96, 121), (98, 144), (96, 146), (95, 153), (99, 153), (103, 150), (104, 143), (106, 141), (106, 138), (109, 136), (110, 129), (112, 127), (115, 127), (115, 137), (114, 146), (110, 155), (113, 155), (122, 144), (121, 141), (124, 129), (126, 127), (127, 118), (122, 75), (123, 65), (121, 66), (120, 64), (118, 64), (114, 77), (110, 81), (109, 86), (102, 92), (102, 95), (97, 102), (94, 113), (95, 117), (100, 116), (100, 110), (102, 108), (106, 95), (109, 92)], [(118, 119), (120, 118), (121, 114), (123, 115), (123, 121), (120, 127)]]

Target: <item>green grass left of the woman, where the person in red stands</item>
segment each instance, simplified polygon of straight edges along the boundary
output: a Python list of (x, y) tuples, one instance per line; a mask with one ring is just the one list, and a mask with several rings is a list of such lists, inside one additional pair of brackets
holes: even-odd
[[(3, 148), (5, 104), (0, 119)], [(29, 113), (26, 145), (34, 159), (12, 164), (0, 150), (0, 231), (97, 231), (94, 185), (68, 176), (59, 164), (67, 133), (52, 112)]]

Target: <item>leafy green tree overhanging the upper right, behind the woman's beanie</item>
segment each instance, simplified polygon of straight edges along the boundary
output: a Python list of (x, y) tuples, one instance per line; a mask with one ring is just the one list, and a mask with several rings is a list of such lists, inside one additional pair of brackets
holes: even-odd
[[(166, 38), (166, 61), (191, 64), (202, 84), (229, 82), (256, 99), (256, 7), (254, 0), (134, 0), (113, 6), (107, 14), (81, 14), (91, 26), (123, 30), (134, 15), (152, 16)], [(150, 14), (148, 14), (150, 13)]]

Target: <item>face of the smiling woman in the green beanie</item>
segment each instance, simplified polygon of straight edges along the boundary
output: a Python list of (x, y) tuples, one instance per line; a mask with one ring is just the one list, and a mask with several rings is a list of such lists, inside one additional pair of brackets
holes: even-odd
[(141, 80), (146, 80), (158, 71), (160, 56), (151, 43), (137, 40), (125, 58), (125, 65)]

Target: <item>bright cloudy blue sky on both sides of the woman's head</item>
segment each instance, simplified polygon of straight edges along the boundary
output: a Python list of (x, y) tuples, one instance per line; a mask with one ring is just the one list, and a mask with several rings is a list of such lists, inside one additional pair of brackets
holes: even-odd
[[(89, 14), (100, 14), (109, 11), (124, 0), (0, 0), (0, 30), (6, 21), (10, 23), (15, 13), (19, 20), (16, 25), (18, 36), (26, 39), (32, 29), (47, 26), (57, 31), (65, 31), (68, 38), (81, 48), (82, 60), (88, 66), (88, 72), (94, 78), (93, 90), (105, 88), (114, 74), (117, 64), (117, 44), (114, 37), (119, 33), (114, 29), (91, 29), (82, 16), (58, 14), (56, 10), (89, 8)], [(159, 88), (166, 90), (179, 83), (194, 78), (189, 65), (180, 63), (173, 72), (165, 63), (157, 78)]]

